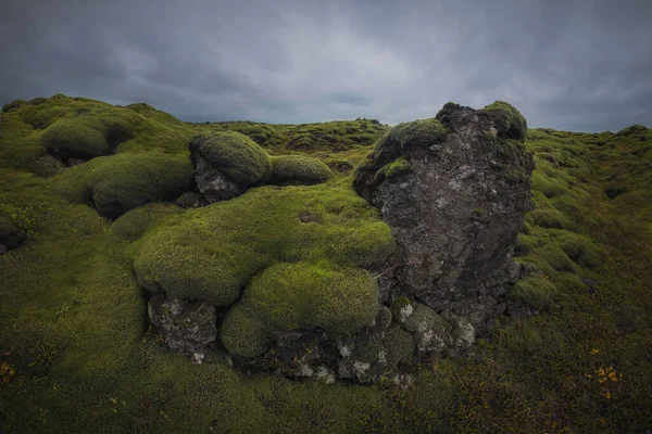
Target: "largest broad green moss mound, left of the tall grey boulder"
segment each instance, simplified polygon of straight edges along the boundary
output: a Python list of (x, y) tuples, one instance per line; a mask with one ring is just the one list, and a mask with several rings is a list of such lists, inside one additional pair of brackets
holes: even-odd
[[(303, 222), (306, 212), (319, 222)], [(134, 269), (152, 291), (228, 306), (254, 275), (276, 263), (366, 267), (392, 248), (389, 227), (351, 191), (264, 187), (149, 231), (137, 242)]]

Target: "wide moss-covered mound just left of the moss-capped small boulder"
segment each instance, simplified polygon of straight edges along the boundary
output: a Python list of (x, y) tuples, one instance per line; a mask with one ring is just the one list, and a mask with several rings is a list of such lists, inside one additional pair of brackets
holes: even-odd
[(117, 218), (149, 202), (172, 201), (191, 187), (191, 174), (185, 155), (116, 154), (98, 158), (87, 186), (98, 213)]

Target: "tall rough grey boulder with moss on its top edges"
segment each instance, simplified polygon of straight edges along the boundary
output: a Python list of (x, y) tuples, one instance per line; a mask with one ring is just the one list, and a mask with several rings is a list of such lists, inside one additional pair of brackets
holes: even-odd
[(475, 327), (504, 311), (503, 295), (519, 275), (516, 235), (530, 208), (525, 132), (509, 104), (476, 111), (449, 103), (435, 119), (400, 124), (378, 141), (354, 187), (399, 245), (380, 281), (385, 297), (405, 294)]

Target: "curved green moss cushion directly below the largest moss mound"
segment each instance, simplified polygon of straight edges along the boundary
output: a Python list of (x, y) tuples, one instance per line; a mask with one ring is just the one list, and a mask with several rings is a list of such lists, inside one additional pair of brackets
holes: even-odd
[(351, 333), (378, 311), (378, 288), (361, 269), (330, 264), (277, 264), (255, 276), (222, 327), (229, 353), (252, 357), (278, 332), (321, 328)]

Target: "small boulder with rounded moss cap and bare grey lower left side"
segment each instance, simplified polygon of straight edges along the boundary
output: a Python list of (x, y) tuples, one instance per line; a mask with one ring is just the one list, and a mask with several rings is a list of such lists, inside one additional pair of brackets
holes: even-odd
[(195, 178), (209, 203), (231, 199), (272, 174), (269, 156), (253, 140), (236, 131), (197, 135), (188, 144)]

